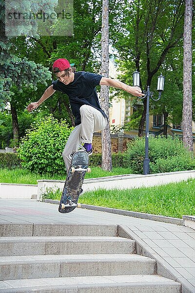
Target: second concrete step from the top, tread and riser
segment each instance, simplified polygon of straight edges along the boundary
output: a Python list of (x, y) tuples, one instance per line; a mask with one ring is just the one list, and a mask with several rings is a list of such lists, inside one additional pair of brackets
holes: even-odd
[(135, 253), (136, 242), (114, 236), (0, 237), (0, 256)]

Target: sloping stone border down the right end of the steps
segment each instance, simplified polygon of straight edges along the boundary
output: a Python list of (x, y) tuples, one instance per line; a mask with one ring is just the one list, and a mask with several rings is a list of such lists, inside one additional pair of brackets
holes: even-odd
[(182, 285), (182, 293), (195, 293), (195, 287), (166, 262), (156, 251), (147, 245), (134, 231), (126, 225), (118, 225), (119, 237), (127, 237), (136, 241), (137, 254), (156, 260), (157, 274), (179, 282)]

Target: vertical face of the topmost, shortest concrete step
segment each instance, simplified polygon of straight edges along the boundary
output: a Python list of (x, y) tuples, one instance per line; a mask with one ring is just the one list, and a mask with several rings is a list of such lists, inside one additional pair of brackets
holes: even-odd
[(117, 225), (0, 223), (0, 236), (117, 236)]

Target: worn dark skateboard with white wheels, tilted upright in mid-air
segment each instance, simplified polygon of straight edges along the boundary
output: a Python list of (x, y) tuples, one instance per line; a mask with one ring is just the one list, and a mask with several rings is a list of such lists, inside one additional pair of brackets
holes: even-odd
[(91, 172), (89, 156), (86, 151), (78, 150), (74, 153), (66, 182), (59, 203), (59, 212), (67, 213), (78, 206), (78, 197), (86, 172)]

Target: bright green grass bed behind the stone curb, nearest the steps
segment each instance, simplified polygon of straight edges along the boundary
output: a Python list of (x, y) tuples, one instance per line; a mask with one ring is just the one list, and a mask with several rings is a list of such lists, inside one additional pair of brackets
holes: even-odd
[[(46, 197), (60, 199), (61, 191), (50, 191)], [(98, 189), (85, 192), (79, 202), (182, 218), (195, 214), (195, 179), (150, 188)]]

